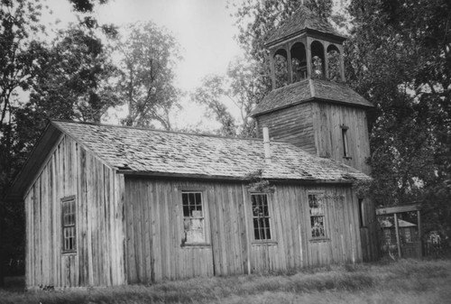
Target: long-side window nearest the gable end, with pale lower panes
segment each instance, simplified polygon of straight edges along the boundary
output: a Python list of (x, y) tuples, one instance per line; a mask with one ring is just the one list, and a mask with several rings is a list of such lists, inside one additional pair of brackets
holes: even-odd
[(205, 217), (202, 206), (202, 192), (182, 191), (183, 244), (205, 243)]

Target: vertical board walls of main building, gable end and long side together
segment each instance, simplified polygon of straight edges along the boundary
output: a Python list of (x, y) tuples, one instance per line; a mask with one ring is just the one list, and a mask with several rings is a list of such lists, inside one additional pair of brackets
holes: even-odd
[[(63, 136), (24, 198), (27, 286), (107, 286), (283, 271), (360, 262), (368, 254), (369, 236), (361, 237), (351, 187), (275, 186), (269, 194), (272, 242), (253, 242), (247, 184), (124, 178)], [(181, 245), (183, 189), (203, 192), (206, 244)], [(324, 240), (311, 239), (310, 190), (339, 198), (327, 199)], [(61, 253), (60, 199), (70, 196), (77, 205), (77, 253)]]

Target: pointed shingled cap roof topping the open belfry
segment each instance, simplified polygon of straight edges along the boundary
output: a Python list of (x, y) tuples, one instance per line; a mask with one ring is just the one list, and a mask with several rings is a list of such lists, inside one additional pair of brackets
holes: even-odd
[(268, 35), (265, 45), (270, 46), (308, 30), (332, 35), (341, 41), (345, 40), (345, 37), (336, 32), (330, 23), (313, 14), (306, 6), (300, 5), (299, 9), (290, 18), (286, 19), (281, 23), (281, 26)]

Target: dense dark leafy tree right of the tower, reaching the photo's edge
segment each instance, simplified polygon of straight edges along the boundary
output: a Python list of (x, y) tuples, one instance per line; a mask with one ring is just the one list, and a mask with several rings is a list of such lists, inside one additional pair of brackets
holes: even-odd
[(376, 106), (373, 194), (384, 205), (424, 203), (428, 224), (449, 233), (451, 4), (354, 0), (349, 12), (347, 75)]

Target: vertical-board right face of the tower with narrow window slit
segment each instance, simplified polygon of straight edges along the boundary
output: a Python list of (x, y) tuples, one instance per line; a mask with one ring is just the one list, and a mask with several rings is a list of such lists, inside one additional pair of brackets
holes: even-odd
[[(370, 156), (366, 112), (362, 108), (328, 103), (313, 103), (315, 143), (318, 156), (342, 161), (348, 166), (370, 174), (366, 158)], [(347, 147), (350, 158), (345, 158), (341, 125), (347, 129)]]

